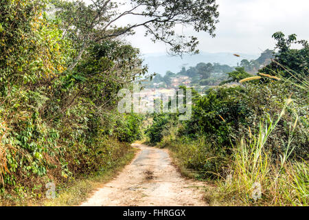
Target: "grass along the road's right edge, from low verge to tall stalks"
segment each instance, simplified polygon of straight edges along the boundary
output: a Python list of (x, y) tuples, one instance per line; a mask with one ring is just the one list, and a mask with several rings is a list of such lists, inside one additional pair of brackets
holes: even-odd
[(231, 146), (231, 155), (217, 163), (225, 166), (225, 173), (217, 173), (219, 178), (203, 179), (203, 169), (208, 172), (207, 163), (216, 159), (216, 152), (211, 152), (211, 146), (204, 140), (181, 143), (172, 133), (157, 146), (170, 149), (183, 175), (207, 181), (205, 200), (209, 206), (308, 206), (309, 164), (288, 159), (295, 148), (290, 143), (298, 117), (290, 127), (286, 151), (279, 158), (274, 159), (265, 147), (290, 102), (286, 101), (275, 120), (260, 122), (260, 131), (251, 134), (249, 140), (242, 139)]

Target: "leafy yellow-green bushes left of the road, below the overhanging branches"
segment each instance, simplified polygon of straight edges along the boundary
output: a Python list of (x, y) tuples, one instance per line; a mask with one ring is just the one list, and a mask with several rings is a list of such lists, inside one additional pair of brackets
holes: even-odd
[(119, 89), (145, 74), (139, 51), (105, 39), (70, 68), (78, 46), (48, 3), (0, 5), (1, 202), (110, 168), (140, 135), (141, 118), (117, 112)]

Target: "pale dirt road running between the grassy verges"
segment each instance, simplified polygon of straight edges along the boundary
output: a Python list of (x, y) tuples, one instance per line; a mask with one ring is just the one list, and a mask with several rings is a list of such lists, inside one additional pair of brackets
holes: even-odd
[(82, 206), (207, 206), (203, 182), (181, 177), (167, 150), (140, 148), (133, 162)]

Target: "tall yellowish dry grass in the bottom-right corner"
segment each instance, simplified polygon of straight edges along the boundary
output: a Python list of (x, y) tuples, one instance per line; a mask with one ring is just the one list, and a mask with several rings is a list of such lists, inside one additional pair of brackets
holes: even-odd
[[(286, 106), (291, 100), (287, 100)], [(249, 141), (242, 140), (233, 148), (231, 175), (218, 186), (212, 200), (216, 203), (241, 206), (308, 206), (309, 166), (308, 162), (288, 161), (294, 148), (290, 147), (290, 136), (286, 152), (275, 162), (270, 151), (264, 151), (269, 135), (284, 115), (282, 109), (276, 121), (260, 124), (258, 136)], [(293, 127), (290, 133), (293, 133)]]

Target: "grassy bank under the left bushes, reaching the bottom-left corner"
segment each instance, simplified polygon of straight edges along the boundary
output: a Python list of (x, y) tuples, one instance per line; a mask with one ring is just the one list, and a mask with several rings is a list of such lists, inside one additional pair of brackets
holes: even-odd
[(0, 206), (78, 206), (95, 188), (115, 177), (137, 151), (115, 140), (110, 140), (110, 145), (114, 146), (113, 151), (110, 151), (108, 162), (101, 162), (100, 170), (67, 179), (54, 179), (52, 182), (56, 185), (56, 199), (47, 199), (45, 193), (48, 189), (40, 184), (32, 190), (24, 187), (1, 192)]

